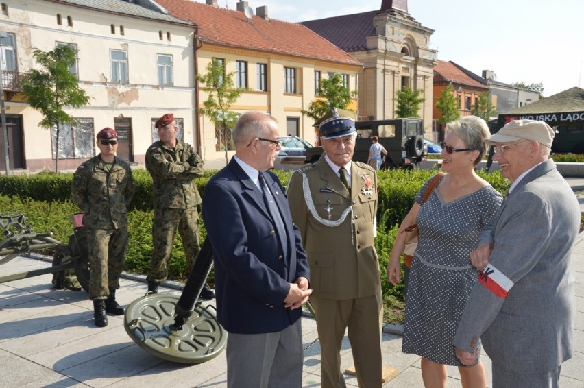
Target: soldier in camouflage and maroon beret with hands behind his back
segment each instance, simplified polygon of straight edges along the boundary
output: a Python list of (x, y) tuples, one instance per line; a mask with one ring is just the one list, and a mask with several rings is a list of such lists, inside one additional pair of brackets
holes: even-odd
[(99, 155), (75, 171), (71, 197), (87, 229), (90, 262), (89, 299), (96, 326), (108, 325), (106, 313), (123, 315), (116, 289), (127, 249), (127, 204), (134, 195), (134, 177), (127, 162), (116, 158), (118, 134), (104, 128), (97, 134)]

